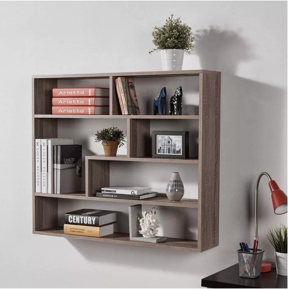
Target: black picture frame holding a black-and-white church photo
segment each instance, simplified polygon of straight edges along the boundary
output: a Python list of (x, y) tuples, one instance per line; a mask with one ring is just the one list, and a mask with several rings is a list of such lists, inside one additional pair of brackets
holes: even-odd
[[(172, 138), (171, 138), (172, 136)], [(180, 153), (179, 144), (173, 143), (173, 136), (181, 138)], [(170, 137), (172, 142), (164, 147), (158, 147), (159, 137)], [(169, 142), (165, 138), (165, 142)], [(172, 152), (171, 152), (172, 151)], [(167, 159), (188, 159), (189, 158), (189, 131), (152, 131), (152, 158), (167, 158)]]

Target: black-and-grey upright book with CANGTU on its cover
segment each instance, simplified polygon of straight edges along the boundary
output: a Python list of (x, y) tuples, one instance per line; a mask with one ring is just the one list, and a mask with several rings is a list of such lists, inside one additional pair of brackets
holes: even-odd
[(57, 194), (81, 191), (82, 145), (57, 146)]

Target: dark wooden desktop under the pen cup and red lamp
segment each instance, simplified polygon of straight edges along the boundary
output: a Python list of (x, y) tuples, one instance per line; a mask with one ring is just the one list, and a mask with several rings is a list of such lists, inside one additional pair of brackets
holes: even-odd
[(239, 277), (239, 267), (235, 264), (213, 275), (203, 278), (202, 287), (207, 288), (287, 288), (287, 276), (271, 272), (261, 273), (255, 279)]

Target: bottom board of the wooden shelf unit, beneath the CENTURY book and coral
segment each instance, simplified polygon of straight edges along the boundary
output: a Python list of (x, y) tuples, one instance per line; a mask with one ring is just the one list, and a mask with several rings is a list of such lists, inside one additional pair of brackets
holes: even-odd
[(197, 249), (198, 241), (178, 239), (178, 238), (167, 238), (166, 241), (160, 242), (160, 243), (131, 241), (129, 239), (129, 234), (126, 234), (126, 233), (115, 233), (114, 235), (111, 235), (111, 236), (107, 236), (103, 238), (96, 238), (96, 237), (64, 234), (63, 227), (53, 227), (53, 228), (48, 228), (48, 229), (44, 229), (40, 231), (33, 231), (33, 234), (73, 238), (73, 239), (81, 239), (81, 240), (90, 240), (90, 241), (96, 241), (96, 242), (134, 245), (134, 246), (142, 246), (142, 247), (155, 247), (155, 248), (172, 249), (172, 250), (179, 250), (179, 251), (199, 252), (199, 250)]

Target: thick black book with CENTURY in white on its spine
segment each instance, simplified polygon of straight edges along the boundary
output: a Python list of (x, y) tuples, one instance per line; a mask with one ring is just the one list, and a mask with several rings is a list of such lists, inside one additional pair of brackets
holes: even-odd
[(81, 209), (65, 214), (65, 224), (99, 227), (116, 222), (115, 211)]

